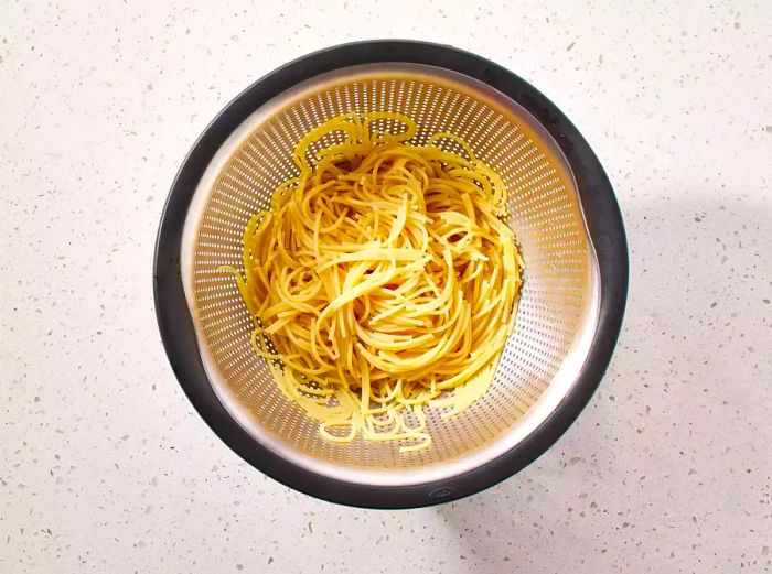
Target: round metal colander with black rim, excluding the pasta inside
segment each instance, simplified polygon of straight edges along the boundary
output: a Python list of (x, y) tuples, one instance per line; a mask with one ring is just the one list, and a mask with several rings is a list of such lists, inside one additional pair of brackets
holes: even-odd
[[(326, 119), (393, 111), (414, 141), (462, 137), (508, 188), (508, 223), (525, 261), (516, 327), (491, 389), (462, 414), (428, 411), (433, 444), (328, 442), (286, 400), (249, 345), (234, 279), (242, 234), (276, 186), (297, 175), (292, 149)], [(388, 128), (388, 126), (386, 126)], [(407, 508), (486, 488), (544, 453), (605, 370), (628, 289), (624, 228), (603, 170), (570, 121), (511, 72), (452, 47), (346, 44), (253, 84), (185, 159), (158, 236), (154, 294), (167, 354), (210, 426), (244, 459), (309, 495)]]

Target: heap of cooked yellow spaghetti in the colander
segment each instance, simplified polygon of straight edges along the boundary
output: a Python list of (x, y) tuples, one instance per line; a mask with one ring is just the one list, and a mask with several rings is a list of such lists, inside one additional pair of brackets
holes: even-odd
[(416, 133), (387, 112), (312, 130), (246, 227), (244, 274), (227, 268), (255, 353), (321, 435), (405, 453), (431, 445), (425, 409), (458, 414), (491, 386), (523, 266), (496, 172), (452, 133)]

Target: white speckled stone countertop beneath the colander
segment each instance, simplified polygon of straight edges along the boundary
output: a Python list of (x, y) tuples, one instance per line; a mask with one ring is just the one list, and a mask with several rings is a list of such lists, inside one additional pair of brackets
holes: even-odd
[[(4, 3), (1, 573), (772, 568), (772, 4), (540, 3)], [(547, 94), (608, 169), (632, 263), (577, 424), (504, 484), (403, 512), (243, 463), (180, 390), (151, 291), (208, 120), (290, 58), (378, 36)]]

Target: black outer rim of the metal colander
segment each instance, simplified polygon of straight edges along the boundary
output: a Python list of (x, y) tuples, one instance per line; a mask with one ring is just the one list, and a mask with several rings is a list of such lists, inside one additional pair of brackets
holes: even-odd
[[(258, 107), (294, 85), (350, 66), (407, 63), (441, 67), (483, 82), (527, 109), (551, 134), (577, 183), (596, 248), (600, 304), (596, 334), (575, 383), (556, 409), (524, 441), (500, 457), (439, 481), (379, 486), (319, 475), (280, 457), (245, 431), (217, 398), (201, 360), (180, 270), (182, 230), (193, 193), (206, 166), (230, 133)], [(328, 47), (302, 56), (262, 78), (232, 100), (205, 128), (172, 183), (161, 214), (153, 260), (156, 315), (172, 370), (210, 427), (247, 463), (307, 495), (363, 508), (416, 508), (455, 500), (514, 475), (544, 454), (587, 405), (616, 344), (628, 294), (629, 260), (621, 212), (598, 158), (568, 118), (508, 69), (452, 46), (375, 40)]]

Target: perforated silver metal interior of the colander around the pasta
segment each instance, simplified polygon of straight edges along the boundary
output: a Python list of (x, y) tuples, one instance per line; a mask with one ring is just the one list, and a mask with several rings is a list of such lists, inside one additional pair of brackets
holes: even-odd
[[(342, 113), (393, 111), (418, 123), (415, 143), (437, 132), (462, 137), (510, 191), (508, 223), (521, 243), (525, 284), (516, 328), (495, 381), (464, 413), (428, 411), (429, 450), (357, 437), (331, 443), (286, 400), (249, 345), (251, 323), (233, 277), (242, 234), (296, 176), (292, 150)], [(387, 127), (387, 126), (386, 126)], [(226, 141), (202, 178), (185, 223), (185, 294), (207, 375), (226, 408), (257, 440), (296, 464), (345, 480), (414, 484), (476, 467), (527, 436), (579, 371), (594, 332), (598, 270), (573, 178), (557, 145), (519, 106), (465, 76), (395, 64), (315, 77), (262, 106)]]

